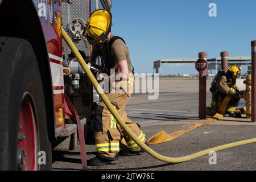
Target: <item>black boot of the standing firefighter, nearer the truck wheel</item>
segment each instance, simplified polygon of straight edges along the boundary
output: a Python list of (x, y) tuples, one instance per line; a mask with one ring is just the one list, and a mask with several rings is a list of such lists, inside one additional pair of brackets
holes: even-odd
[(88, 161), (88, 166), (105, 166), (117, 164), (118, 155), (115, 155), (115, 158), (107, 158), (105, 156), (97, 155), (96, 157)]

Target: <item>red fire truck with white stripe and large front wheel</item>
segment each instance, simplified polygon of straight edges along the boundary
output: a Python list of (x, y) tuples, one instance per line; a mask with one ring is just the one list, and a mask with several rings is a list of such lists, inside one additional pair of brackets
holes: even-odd
[(61, 26), (86, 58), (85, 21), (95, 9), (111, 5), (110, 0), (0, 0), (0, 170), (48, 170), (53, 149), (76, 147), (73, 120), (84, 126), (97, 97), (61, 38)]

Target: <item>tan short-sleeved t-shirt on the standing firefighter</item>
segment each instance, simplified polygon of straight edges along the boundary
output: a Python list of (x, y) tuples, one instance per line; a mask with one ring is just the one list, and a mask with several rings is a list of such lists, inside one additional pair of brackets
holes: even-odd
[[(114, 35), (111, 34), (110, 39), (112, 39), (113, 36)], [(99, 55), (102, 56), (104, 64), (106, 65), (106, 61), (109, 60), (108, 46), (106, 45), (106, 43), (101, 45), (100, 48), (93, 47), (92, 56), (97, 57)], [(126, 60), (128, 64), (129, 73), (132, 73), (129, 49), (121, 39), (115, 40), (115, 42), (112, 44), (112, 47), (110, 48), (110, 55), (110, 59), (112, 61), (111, 68), (115, 69), (119, 61)]]

